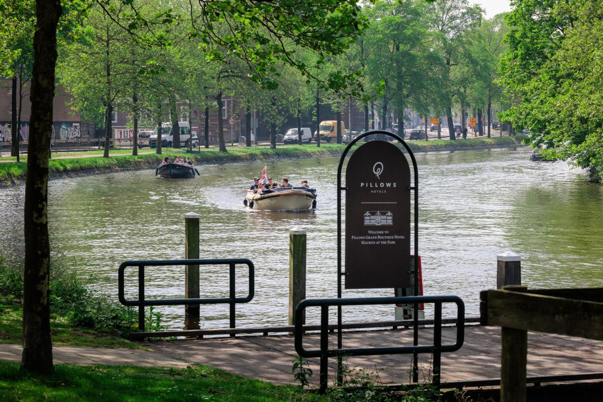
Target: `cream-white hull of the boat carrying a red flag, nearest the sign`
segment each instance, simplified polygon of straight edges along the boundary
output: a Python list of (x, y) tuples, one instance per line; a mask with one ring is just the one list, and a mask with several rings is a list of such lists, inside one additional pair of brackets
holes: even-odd
[(306, 187), (275, 188), (262, 193), (249, 191), (243, 202), (264, 211), (303, 211), (316, 208), (316, 190)]

